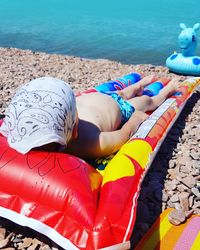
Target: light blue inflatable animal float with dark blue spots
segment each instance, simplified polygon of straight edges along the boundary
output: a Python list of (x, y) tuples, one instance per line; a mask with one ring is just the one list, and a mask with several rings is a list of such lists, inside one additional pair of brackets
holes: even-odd
[(184, 23), (180, 24), (182, 29), (178, 41), (182, 53), (174, 53), (166, 60), (167, 67), (179, 74), (183, 75), (200, 75), (200, 57), (195, 56), (197, 47), (196, 30), (200, 27), (196, 23), (193, 28), (187, 28)]

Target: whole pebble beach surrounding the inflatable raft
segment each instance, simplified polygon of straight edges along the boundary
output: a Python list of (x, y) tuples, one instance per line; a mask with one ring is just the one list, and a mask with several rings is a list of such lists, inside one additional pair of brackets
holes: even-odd
[[(178, 77), (168, 68), (150, 64), (125, 65), (104, 59), (0, 48), (0, 115), (18, 87), (37, 77), (51, 76), (82, 91), (131, 72), (158, 77)], [(174, 208), (171, 223), (183, 223), (191, 214), (200, 214), (200, 91), (188, 100), (169, 131), (149, 171), (138, 199), (138, 212), (132, 234), (132, 249), (159, 214)], [(57, 250), (55, 243), (30, 229), (0, 217), (0, 249)]]

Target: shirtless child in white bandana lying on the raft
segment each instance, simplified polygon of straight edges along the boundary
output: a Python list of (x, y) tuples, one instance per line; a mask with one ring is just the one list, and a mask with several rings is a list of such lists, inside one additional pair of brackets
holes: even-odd
[(38, 147), (54, 150), (61, 144), (65, 152), (83, 158), (110, 155), (136, 132), (148, 117), (145, 112), (177, 91), (177, 81), (172, 80), (157, 96), (142, 96), (143, 88), (154, 80), (147, 76), (120, 91), (75, 98), (65, 82), (38, 78), (17, 91), (0, 132), (21, 153)]

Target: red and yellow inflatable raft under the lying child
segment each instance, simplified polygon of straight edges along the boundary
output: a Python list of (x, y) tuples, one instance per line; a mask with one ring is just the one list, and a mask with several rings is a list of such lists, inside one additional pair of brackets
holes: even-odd
[[(123, 88), (139, 79), (139, 74), (131, 74), (87, 94), (102, 86)], [(183, 82), (181, 94), (155, 110), (103, 169), (63, 153), (22, 155), (0, 135), (0, 216), (67, 250), (130, 249), (141, 182), (199, 83), (200, 78)]]

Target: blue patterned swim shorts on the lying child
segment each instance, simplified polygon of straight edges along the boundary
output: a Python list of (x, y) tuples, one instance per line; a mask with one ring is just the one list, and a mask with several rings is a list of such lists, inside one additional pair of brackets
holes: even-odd
[(111, 96), (116, 101), (122, 112), (122, 124), (126, 123), (135, 111), (135, 108), (128, 101), (124, 100), (120, 95), (115, 92), (102, 93)]

